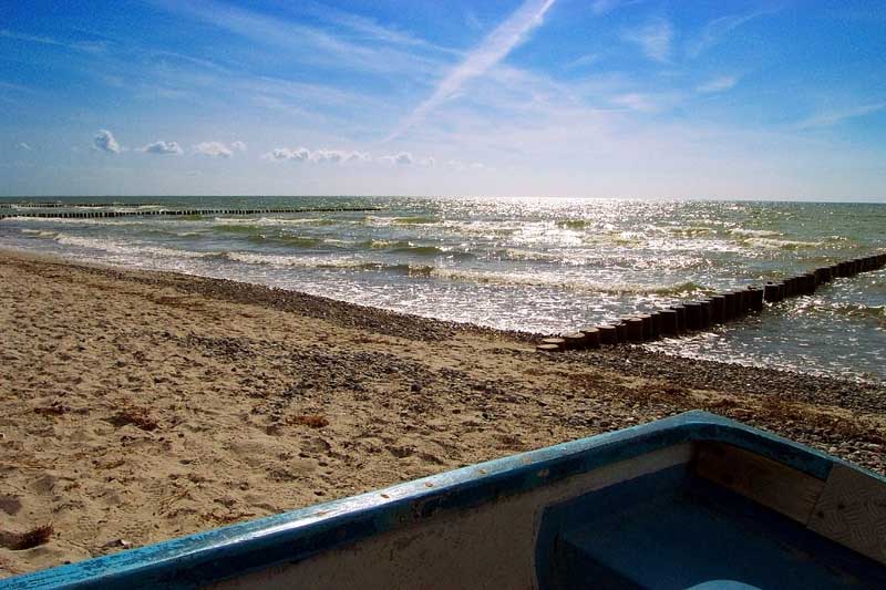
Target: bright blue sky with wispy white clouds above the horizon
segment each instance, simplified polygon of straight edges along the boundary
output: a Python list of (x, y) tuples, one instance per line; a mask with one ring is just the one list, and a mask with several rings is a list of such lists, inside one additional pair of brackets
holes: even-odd
[(875, 1), (0, 4), (0, 194), (886, 200)]

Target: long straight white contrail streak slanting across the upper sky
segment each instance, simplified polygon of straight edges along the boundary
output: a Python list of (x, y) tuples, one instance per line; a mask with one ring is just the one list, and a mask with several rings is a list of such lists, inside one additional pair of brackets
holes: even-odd
[(461, 63), (440, 81), (433, 94), (401, 121), (393, 133), (388, 136), (388, 141), (402, 135), (406, 130), (424, 118), (427, 113), (457, 94), (466, 82), (482, 76), (504, 60), (514, 48), (526, 40), (533, 29), (542, 24), (545, 13), (554, 6), (555, 1), (527, 0), (524, 2), (511, 17), (490, 33), (480, 46), (471, 51)]

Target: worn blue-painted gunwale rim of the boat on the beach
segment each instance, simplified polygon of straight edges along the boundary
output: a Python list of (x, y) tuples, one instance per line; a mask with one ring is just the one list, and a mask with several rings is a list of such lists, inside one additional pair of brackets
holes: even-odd
[(839, 463), (805, 445), (701, 411), (493, 459), (388, 488), (0, 580), (0, 588), (196, 588), (293, 563), (368, 537), (683, 443), (734, 445), (826, 480)]

